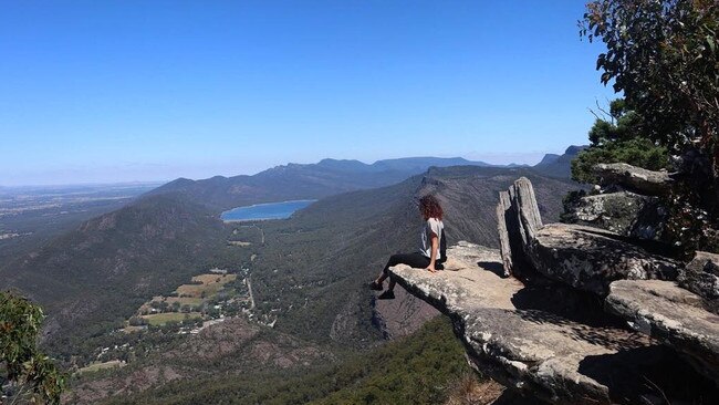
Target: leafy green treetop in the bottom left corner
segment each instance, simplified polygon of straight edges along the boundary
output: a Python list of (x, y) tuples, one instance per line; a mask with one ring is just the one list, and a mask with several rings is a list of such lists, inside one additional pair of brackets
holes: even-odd
[(0, 387), (13, 403), (60, 403), (64, 376), (37, 347), (42, 309), (10, 292), (0, 292)]

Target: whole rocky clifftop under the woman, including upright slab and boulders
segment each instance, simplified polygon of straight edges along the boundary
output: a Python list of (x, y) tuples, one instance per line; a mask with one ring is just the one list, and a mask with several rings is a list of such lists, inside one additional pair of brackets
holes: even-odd
[[(614, 181), (653, 185), (619, 193), (659, 193), (661, 173), (631, 169)], [(525, 178), (500, 194), (497, 214), (500, 250), (460, 242), (449, 251), (456, 271), (392, 269), (452, 319), (477, 368), (550, 403), (719, 401), (715, 257), (685, 266), (626, 232), (543, 225)]]

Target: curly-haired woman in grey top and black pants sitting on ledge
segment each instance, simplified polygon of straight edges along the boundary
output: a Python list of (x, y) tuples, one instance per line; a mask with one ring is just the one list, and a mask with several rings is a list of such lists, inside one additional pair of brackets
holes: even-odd
[[(373, 290), (382, 291), (382, 283), (389, 277), (389, 268), (397, 264), (407, 264), (417, 269), (425, 269), (429, 272), (436, 272), (441, 269), (440, 264), (440, 245), (442, 242), (445, 225), (441, 221), (442, 209), (435, 196), (428, 195), (419, 199), (419, 214), (425, 224), (421, 229), (421, 245), (418, 252), (393, 255), (387, 264), (379, 273), (376, 280), (369, 283)], [(389, 277), (387, 291), (378, 298), (387, 300), (395, 298), (395, 280)]]

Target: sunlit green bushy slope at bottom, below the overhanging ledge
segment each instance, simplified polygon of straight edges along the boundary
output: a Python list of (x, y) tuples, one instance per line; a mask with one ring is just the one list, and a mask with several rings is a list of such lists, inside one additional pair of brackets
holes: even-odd
[(471, 370), (446, 318), (414, 335), (342, 363), (306, 372), (198, 377), (175, 382), (108, 404), (437, 404), (451, 383)]

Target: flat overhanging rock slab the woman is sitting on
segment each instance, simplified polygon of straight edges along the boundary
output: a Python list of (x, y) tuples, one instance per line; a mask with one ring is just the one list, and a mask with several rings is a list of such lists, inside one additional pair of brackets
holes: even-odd
[[(500, 276), (498, 250), (460, 242), (452, 270), (397, 266), (397, 282), (449, 315), (478, 368), (508, 387), (559, 404), (632, 403), (666, 350), (649, 336), (565, 314), (550, 288)], [(628, 398), (628, 399), (627, 399)]]

